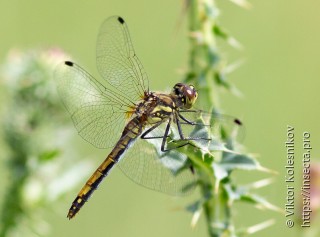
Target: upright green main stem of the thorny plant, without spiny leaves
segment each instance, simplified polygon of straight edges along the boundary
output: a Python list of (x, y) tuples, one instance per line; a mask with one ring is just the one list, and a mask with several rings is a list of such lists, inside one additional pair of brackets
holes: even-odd
[[(214, 0), (190, 0), (189, 31), (191, 49), (189, 73), (186, 81), (192, 82), (201, 91), (199, 94), (201, 108), (219, 111), (218, 93), (214, 84), (214, 75), (218, 69), (216, 35), (213, 28), (219, 15)], [(212, 237), (222, 236), (229, 228), (233, 229), (231, 209), (222, 195), (225, 195), (219, 184), (214, 182), (213, 175), (208, 175), (201, 167), (198, 169), (201, 195), (204, 198), (203, 211), (207, 221), (208, 232)]]

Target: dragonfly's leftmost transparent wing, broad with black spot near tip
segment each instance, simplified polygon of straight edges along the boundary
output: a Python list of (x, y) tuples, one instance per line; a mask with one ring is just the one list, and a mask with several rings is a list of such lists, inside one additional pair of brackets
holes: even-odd
[(58, 65), (54, 76), (80, 136), (98, 148), (113, 147), (134, 104), (72, 62)]

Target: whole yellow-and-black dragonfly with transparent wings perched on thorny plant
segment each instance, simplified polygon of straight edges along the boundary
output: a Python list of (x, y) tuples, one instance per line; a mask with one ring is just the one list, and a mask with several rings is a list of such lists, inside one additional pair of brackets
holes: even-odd
[[(58, 92), (79, 135), (97, 148), (111, 149), (78, 193), (67, 217), (79, 212), (116, 164), (147, 188), (173, 195), (192, 190), (195, 173), (179, 148), (197, 147), (196, 143), (209, 146), (219, 129), (228, 123), (240, 126), (240, 120), (194, 110), (198, 92), (192, 85), (176, 83), (169, 93), (150, 91), (120, 16), (101, 25), (96, 61), (103, 80), (71, 61), (55, 71)], [(201, 129), (206, 132), (195, 132)]]

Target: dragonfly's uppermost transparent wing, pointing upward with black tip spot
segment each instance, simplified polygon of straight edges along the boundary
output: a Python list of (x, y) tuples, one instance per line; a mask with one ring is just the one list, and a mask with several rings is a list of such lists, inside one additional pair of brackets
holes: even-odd
[(149, 89), (148, 78), (121, 17), (112, 16), (101, 25), (96, 50), (101, 76), (129, 100), (140, 100)]

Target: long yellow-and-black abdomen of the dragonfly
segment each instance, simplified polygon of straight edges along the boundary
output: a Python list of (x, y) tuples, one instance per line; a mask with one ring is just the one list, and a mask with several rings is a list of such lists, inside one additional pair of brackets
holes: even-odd
[(69, 219), (73, 218), (79, 212), (81, 207), (88, 201), (94, 190), (98, 188), (101, 181), (109, 174), (109, 171), (121, 159), (121, 157), (124, 155), (124, 152), (141, 134), (141, 132), (142, 126), (139, 124), (138, 119), (133, 119), (127, 124), (121, 138), (113, 150), (101, 163), (98, 169), (96, 169), (96, 171), (91, 175), (86, 184), (78, 193), (76, 199), (73, 201), (67, 216)]

